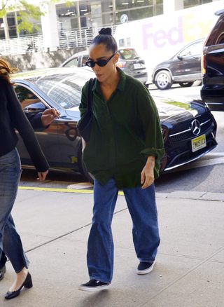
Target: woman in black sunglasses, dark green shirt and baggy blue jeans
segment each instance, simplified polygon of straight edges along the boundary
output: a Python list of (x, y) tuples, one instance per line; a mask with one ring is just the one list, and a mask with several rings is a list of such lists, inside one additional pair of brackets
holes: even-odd
[[(93, 121), (90, 140), (83, 150), (87, 170), (94, 176), (92, 227), (87, 243), (90, 281), (84, 291), (107, 289), (113, 276), (111, 221), (123, 189), (133, 221), (137, 274), (153, 270), (160, 244), (154, 179), (165, 154), (155, 102), (144, 85), (116, 67), (119, 55), (111, 29), (102, 29), (90, 45), (86, 64), (96, 80), (92, 88)], [(87, 111), (83, 87), (80, 115)], [(84, 143), (84, 142), (83, 142)]]

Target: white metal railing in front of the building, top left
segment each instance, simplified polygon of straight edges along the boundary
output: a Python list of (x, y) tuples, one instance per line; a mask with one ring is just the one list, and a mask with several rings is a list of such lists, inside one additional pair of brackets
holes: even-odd
[[(106, 27), (106, 26), (104, 26)], [(114, 34), (116, 26), (109, 26)], [(100, 27), (101, 28), (101, 27)], [(99, 29), (100, 29), (99, 28)], [(99, 30), (97, 29), (97, 30)], [(59, 49), (70, 49), (75, 47), (90, 46), (94, 37), (92, 28), (81, 30), (73, 29), (71, 31), (59, 31)], [(25, 53), (34, 53), (44, 51), (43, 34), (21, 36), (15, 39), (0, 39), (1, 55), (21, 55)]]

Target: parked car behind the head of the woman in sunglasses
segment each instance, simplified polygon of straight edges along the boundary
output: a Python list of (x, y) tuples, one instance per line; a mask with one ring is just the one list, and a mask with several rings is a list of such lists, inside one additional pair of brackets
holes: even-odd
[[(126, 74), (146, 84), (148, 81), (148, 74), (145, 61), (139, 57), (137, 51), (134, 48), (119, 48), (118, 53), (119, 61), (117, 66), (123, 69)], [(69, 57), (60, 67), (83, 67), (88, 58), (88, 51), (81, 51)]]

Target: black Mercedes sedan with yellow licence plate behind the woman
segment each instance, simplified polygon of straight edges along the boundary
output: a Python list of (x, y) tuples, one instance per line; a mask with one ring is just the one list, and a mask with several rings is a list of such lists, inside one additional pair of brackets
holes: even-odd
[[(12, 79), (25, 111), (40, 112), (54, 107), (60, 113), (49, 128), (36, 130), (36, 137), (50, 169), (81, 172), (90, 181), (92, 177), (82, 160), (82, 142), (77, 132), (77, 122), (80, 118), (78, 105), (81, 89), (93, 75), (92, 71), (85, 68), (41, 69), (18, 74)], [(160, 165), (161, 172), (190, 163), (216, 147), (216, 121), (201, 100), (177, 102), (163, 97), (154, 99), (160, 114), (166, 151)], [(18, 151), (23, 168), (32, 168), (21, 139)]]

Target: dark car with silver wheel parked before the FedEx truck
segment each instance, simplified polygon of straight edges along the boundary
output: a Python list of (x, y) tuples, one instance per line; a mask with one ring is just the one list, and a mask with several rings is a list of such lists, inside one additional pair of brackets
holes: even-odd
[(173, 83), (192, 86), (202, 79), (201, 55), (204, 39), (198, 39), (182, 48), (169, 60), (161, 62), (153, 69), (152, 81), (160, 90), (168, 90)]

